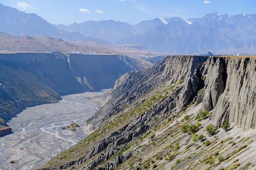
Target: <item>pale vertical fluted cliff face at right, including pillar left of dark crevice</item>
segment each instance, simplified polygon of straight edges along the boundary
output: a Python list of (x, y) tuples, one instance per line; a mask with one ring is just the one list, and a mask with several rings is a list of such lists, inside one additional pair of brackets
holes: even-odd
[(203, 89), (197, 103), (212, 111), (217, 126), (225, 121), (243, 130), (256, 128), (256, 59), (210, 57), (200, 68)]

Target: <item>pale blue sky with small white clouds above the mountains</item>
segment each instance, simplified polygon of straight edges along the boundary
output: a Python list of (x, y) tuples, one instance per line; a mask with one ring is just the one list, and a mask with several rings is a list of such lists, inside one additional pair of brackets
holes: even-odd
[(156, 17), (200, 18), (205, 14), (255, 14), (255, 0), (0, 0), (5, 6), (35, 13), (52, 24), (109, 20), (138, 24)]

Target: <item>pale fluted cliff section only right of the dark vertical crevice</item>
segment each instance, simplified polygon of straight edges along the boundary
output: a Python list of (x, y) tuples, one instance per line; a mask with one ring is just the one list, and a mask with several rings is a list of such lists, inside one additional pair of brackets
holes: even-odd
[[(216, 94), (211, 119), (220, 127), (224, 121), (234, 122), (243, 130), (256, 128), (256, 59), (225, 58), (225, 78), (220, 94)], [(224, 88), (223, 88), (224, 87)]]

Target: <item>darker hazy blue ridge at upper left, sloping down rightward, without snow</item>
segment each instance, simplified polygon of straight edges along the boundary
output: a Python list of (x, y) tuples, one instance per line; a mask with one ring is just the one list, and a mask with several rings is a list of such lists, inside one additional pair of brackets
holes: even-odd
[(16, 8), (3, 6), (0, 3), (0, 32), (7, 32), (15, 36), (53, 36), (64, 40), (93, 40), (78, 32), (64, 32), (53, 27), (52, 24), (36, 14), (21, 12)]

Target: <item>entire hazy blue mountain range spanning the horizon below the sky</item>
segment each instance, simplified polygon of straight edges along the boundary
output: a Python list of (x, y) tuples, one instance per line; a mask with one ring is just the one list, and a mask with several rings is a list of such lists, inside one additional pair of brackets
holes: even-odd
[(52, 36), (67, 41), (142, 44), (155, 52), (220, 54), (255, 52), (256, 15), (214, 12), (203, 18), (155, 18), (132, 25), (114, 20), (52, 25), (36, 14), (0, 4), (0, 32), (14, 36)]

